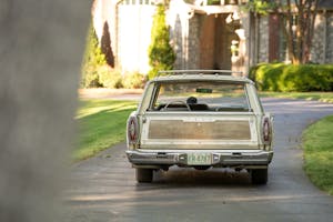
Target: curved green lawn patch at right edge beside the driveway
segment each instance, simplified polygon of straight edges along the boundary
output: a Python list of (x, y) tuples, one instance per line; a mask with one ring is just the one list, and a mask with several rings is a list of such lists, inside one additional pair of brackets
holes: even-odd
[(333, 195), (333, 115), (303, 132), (304, 170), (311, 181)]

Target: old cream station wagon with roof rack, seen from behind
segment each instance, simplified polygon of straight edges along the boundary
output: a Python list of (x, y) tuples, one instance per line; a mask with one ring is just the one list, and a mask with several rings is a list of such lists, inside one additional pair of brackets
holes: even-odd
[(245, 169), (252, 183), (265, 184), (273, 118), (254, 83), (222, 70), (161, 73), (128, 120), (127, 157), (137, 181), (152, 182), (153, 171), (178, 165)]

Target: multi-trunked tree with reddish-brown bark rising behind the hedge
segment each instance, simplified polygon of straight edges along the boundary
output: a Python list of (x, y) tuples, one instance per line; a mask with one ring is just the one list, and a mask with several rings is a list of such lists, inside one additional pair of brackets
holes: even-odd
[(255, 14), (280, 13), (287, 56), (293, 64), (299, 64), (310, 61), (317, 4), (319, 0), (250, 0), (245, 9)]

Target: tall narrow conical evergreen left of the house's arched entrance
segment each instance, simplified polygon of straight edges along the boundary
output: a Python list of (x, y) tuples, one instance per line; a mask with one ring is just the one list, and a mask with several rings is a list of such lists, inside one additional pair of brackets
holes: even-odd
[(151, 44), (148, 53), (149, 64), (151, 65), (149, 79), (155, 77), (160, 70), (173, 69), (175, 53), (170, 46), (169, 28), (165, 24), (164, 4), (158, 4), (157, 13), (153, 17)]

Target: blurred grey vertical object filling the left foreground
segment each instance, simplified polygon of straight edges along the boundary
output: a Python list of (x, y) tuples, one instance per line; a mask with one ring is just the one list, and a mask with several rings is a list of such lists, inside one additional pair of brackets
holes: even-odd
[(90, 1), (0, 3), (0, 221), (59, 221)]

